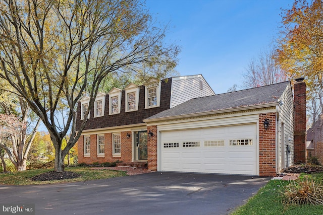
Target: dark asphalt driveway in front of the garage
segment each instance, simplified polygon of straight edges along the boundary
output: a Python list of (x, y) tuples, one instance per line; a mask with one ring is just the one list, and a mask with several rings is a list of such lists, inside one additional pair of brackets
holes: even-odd
[(152, 172), (56, 185), (0, 185), (1, 203), (35, 214), (229, 214), (271, 178)]

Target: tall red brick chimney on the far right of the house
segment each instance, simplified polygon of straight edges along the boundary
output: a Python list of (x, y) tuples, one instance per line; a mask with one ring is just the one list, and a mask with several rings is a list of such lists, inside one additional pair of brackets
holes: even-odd
[(295, 80), (295, 131), (294, 131), (294, 163), (305, 163), (306, 152), (306, 84), (304, 78)]

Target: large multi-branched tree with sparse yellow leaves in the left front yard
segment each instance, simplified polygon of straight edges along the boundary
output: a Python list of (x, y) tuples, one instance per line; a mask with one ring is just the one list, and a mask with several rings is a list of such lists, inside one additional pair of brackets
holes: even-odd
[[(64, 158), (85, 127), (83, 120), (75, 130), (77, 102), (85, 88), (87, 118), (107, 75), (150, 68), (144, 75), (158, 78), (176, 66), (179, 48), (165, 44), (166, 30), (139, 0), (0, 0), (0, 78), (46, 126), (55, 148), (55, 171), (64, 171)], [(67, 132), (70, 138), (62, 149)]]

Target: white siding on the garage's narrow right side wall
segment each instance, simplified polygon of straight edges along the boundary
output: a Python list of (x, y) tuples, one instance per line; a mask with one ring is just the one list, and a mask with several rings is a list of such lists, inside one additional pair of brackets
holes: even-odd
[[(280, 101), (284, 104), (278, 106), (277, 172), (294, 163), (294, 100), (291, 85), (286, 88)], [(290, 147), (288, 155), (286, 155), (287, 145)]]

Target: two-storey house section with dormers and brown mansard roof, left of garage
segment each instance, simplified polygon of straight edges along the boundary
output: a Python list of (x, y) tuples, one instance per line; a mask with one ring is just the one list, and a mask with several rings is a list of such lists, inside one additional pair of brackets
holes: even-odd
[[(78, 162), (123, 161), (147, 163), (147, 130), (143, 119), (175, 107), (189, 99), (214, 95), (202, 75), (149, 79), (145, 85), (129, 84), (124, 90), (113, 88), (98, 93), (94, 108), (78, 140)], [(77, 128), (84, 120), (89, 97), (77, 109)]]

